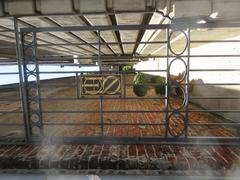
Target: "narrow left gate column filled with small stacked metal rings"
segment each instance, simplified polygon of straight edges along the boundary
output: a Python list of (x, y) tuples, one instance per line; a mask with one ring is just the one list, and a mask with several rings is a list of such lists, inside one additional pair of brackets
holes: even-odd
[(36, 33), (21, 33), (21, 42), (26, 95), (26, 114), (29, 124), (30, 140), (41, 140), (43, 136), (43, 122)]

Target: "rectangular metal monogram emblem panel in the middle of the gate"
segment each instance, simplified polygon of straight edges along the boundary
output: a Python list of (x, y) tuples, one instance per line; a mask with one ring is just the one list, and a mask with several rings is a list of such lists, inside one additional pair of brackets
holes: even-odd
[(84, 75), (81, 77), (82, 95), (120, 95), (121, 76)]

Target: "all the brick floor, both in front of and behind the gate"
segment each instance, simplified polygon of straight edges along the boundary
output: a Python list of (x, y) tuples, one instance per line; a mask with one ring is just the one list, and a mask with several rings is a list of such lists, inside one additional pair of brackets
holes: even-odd
[[(75, 90), (60, 89), (48, 97), (75, 97)], [(127, 89), (128, 96), (133, 96)], [(43, 95), (44, 96), (44, 95)], [(147, 96), (156, 96), (150, 90)], [(173, 102), (179, 106), (179, 101)], [(1, 104), (4, 110), (17, 110), (19, 103)], [(97, 110), (99, 101), (49, 101), (43, 102), (43, 110)], [(190, 108), (196, 109), (194, 105)], [(163, 110), (162, 100), (107, 100), (103, 109), (110, 110)], [(99, 114), (43, 114), (45, 122), (100, 123)], [(105, 113), (105, 136), (163, 136), (165, 128), (159, 125), (113, 125), (114, 123), (163, 123), (164, 113)], [(2, 114), (0, 122), (23, 122), (19, 115)], [(216, 123), (221, 119), (209, 113), (190, 113), (189, 123)], [(176, 118), (173, 128), (181, 124)], [(20, 132), (20, 133), (19, 133)], [(1, 133), (20, 136), (23, 128), (4, 127)], [(44, 125), (45, 136), (94, 136), (101, 134), (100, 126), (50, 126)], [(194, 126), (188, 129), (190, 136), (239, 136), (234, 129)], [(11, 134), (10, 134), (11, 135)], [(177, 170), (234, 170), (240, 167), (240, 147), (187, 146), (187, 145), (1, 145), (0, 169), (149, 169)]]

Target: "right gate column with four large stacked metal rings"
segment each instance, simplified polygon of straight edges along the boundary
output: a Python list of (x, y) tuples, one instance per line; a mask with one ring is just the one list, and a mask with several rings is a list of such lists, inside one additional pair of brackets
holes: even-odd
[[(186, 43), (182, 51), (177, 52), (172, 48), (171, 44), (171, 37), (175, 32), (180, 32), (180, 35), (183, 35), (183, 38), (185, 38)], [(189, 39), (189, 29), (187, 29), (187, 32), (182, 29), (171, 29), (171, 32), (169, 33), (169, 30), (167, 32), (167, 89), (166, 89), (166, 98), (167, 101), (165, 102), (166, 109), (166, 136), (169, 135), (173, 138), (179, 138), (184, 137), (187, 139), (188, 137), (188, 90), (189, 90), (189, 53), (190, 53), (190, 39)], [(171, 55), (171, 60), (169, 60), (169, 54)], [(186, 53), (187, 55), (185, 55)], [(174, 63), (174, 61), (181, 61), (184, 66), (185, 70), (183, 73), (183, 77), (180, 77), (180, 79), (174, 80), (171, 77), (171, 66)], [(182, 83), (184, 86), (182, 86)], [(171, 103), (173, 100), (170, 98), (172, 89), (174, 89), (176, 92), (176, 96), (180, 96), (181, 94), (178, 94), (177, 91), (182, 91), (183, 100), (182, 104), (179, 107), (174, 107)], [(170, 113), (169, 113), (170, 111)], [(175, 124), (176, 122), (174, 119), (178, 120), (178, 125), (176, 128), (176, 125), (174, 127), (171, 127), (171, 124)], [(180, 125), (181, 124), (181, 125)], [(179, 126), (180, 125), (180, 126)]]

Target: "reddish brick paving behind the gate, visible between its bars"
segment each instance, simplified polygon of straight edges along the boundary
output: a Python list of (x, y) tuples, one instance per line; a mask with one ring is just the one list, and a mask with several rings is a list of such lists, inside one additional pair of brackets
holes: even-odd
[[(46, 97), (75, 97), (76, 90), (73, 88), (62, 88), (45, 95)], [(133, 97), (132, 89), (127, 89), (128, 97)], [(44, 95), (43, 95), (44, 96)], [(151, 89), (148, 97), (157, 97)], [(159, 96), (158, 96), (159, 97)], [(174, 99), (173, 106), (179, 106), (179, 100)], [(43, 111), (99, 111), (99, 100), (54, 100), (43, 101)], [(17, 111), (21, 109), (19, 102), (2, 103), (1, 110)], [(190, 109), (199, 109), (190, 105)], [(164, 102), (161, 99), (140, 99), (140, 100), (104, 100), (104, 111), (163, 111)], [(85, 123), (99, 125), (44, 125), (45, 136), (99, 136), (101, 135), (101, 115), (100, 113), (43, 113), (45, 123)], [(20, 114), (1, 114), (0, 122), (23, 123)], [(172, 119), (171, 128), (176, 133), (181, 131), (183, 124), (178, 118)], [(189, 113), (189, 124), (219, 123), (223, 122), (218, 117), (209, 113), (191, 112)], [(103, 133), (105, 136), (164, 136), (166, 128), (164, 125), (149, 125), (165, 123), (164, 112), (144, 112), (144, 113), (104, 113), (103, 114)], [(117, 125), (114, 125), (117, 124)], [(124, 125), (122, 125), (124, 124)], [(22, 127), (4, 127), (0, 132), (5, 136), (23, 136)], [(236, 137), (239, 132), (235, 128), (223, 126), (189, 126), (189, 136), (219, 136)]]

